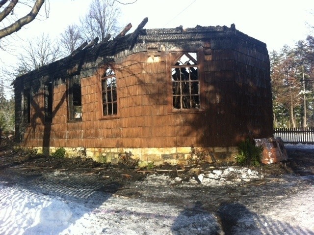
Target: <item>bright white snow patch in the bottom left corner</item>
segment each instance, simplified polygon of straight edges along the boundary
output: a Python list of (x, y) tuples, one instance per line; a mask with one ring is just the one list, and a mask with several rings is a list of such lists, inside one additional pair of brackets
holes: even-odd
[(69, 226), (72, 212), (62, 201), (17, 187), (0, 186), (0, 234), (57, 234)]

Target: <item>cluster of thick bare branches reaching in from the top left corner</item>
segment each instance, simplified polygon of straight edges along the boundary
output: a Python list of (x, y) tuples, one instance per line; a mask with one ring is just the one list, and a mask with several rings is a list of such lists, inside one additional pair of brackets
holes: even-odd
[[(0, 0), (0, 39), (8, 36), (23, 26), (33, 21), (39, 13), (45, 0)], [(19, 18), (14, 13), (18, 5), (22, 7), (30, 7), (31, 11), (25, 16)]]

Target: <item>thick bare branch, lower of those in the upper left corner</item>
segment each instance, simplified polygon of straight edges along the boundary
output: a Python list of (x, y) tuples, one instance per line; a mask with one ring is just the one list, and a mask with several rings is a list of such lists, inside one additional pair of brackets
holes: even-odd
[[(18, 0), (15, 0), (15, 1), (18, 1)], [(8, 27), (1, 29), (0, 30), (0, 39), (7, 36), (7, 35), (12, 34), (13, 32), (17, 32), (26, 24), (32, 22), (36, 18), (37, 14), (38, 14), (40, 8), (42, 7), (42, 5), (44, 4), (44, 2), (45, 2), (45, 0), (36, 0), (32, 10), (26, 16), (20, 18), (19, 20), (17, 20), (13, 24), (9, 25)]]

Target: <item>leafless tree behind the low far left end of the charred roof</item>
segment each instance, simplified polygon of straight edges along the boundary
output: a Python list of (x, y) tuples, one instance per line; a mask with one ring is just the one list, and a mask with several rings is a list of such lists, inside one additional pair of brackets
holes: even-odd
[(29, 40), (28, 46), (18, 56), (19, 75), (40, 68), (60, 58), (59, 45), (50, 39), (49, 35), (42, 34), (36, 40)]

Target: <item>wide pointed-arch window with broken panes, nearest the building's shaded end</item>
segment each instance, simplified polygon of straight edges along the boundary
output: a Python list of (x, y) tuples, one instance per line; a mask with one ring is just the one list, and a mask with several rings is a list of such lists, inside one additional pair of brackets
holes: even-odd
[(197, 53), (185, 52), (172, 65), (174, 109), (199, 109), (200, 86)]

